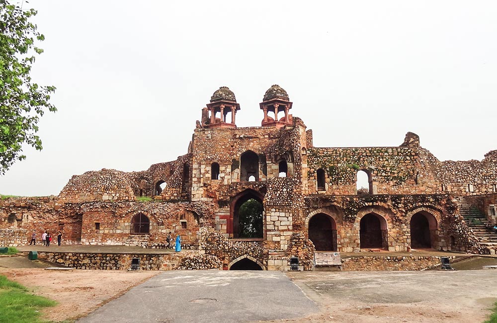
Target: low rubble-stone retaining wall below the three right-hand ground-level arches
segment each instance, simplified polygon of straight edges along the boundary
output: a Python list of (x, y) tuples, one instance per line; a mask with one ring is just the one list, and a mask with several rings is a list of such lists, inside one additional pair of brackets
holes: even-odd
[[(454, 259), (455, 256), (449, 257)], [(439, 256), (376, 256), (343, 258), (343, 271), (421, 270), (440, 263)]]

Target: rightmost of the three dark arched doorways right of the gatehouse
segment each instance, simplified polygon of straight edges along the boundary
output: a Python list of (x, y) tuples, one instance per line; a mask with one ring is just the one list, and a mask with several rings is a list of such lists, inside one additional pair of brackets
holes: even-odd
[(411, 246), (413, 248), (433, 248), (436, 219), (428, 212), (420, 211), (411, 218)]

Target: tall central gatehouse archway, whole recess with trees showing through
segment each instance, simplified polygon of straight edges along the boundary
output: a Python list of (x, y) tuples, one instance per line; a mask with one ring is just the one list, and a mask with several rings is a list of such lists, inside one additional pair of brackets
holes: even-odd
[(231, 232), (233, 238), (263, 238), (263, 196), (246, 190), (232, 200)]

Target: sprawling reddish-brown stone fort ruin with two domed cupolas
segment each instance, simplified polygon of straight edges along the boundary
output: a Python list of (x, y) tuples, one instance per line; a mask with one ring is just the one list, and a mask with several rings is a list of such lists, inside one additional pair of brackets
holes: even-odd
[[(171, 233), (195, 250), (191, 263), (225, 269), (278, 270), (298, 256), (309, 270), (315, 250), (495, 254), (497, 236), (483, 222), (496, 218), (497, 151), (439, 161), (414, 133), (399, 147), (318, 148), (291, 109), (273, 85), (261, 126), (239, 128), (240, 104), (220, 87), (186, 155), (143, 171), (74, 175), (57, 197), (2, 200), (0, 242), (26, 244), (45, 228), (64, 231), (66, 244), (163, 248)], [(358, 174), (368, 179), (359, 190)]]

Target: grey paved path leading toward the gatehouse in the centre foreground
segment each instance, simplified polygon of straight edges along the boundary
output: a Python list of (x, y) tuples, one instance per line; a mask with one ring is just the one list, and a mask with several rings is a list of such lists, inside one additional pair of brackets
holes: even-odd
[(79, 323), (235, 323), (305, 317), (314, 302), (282, 272), (168, 271)]

